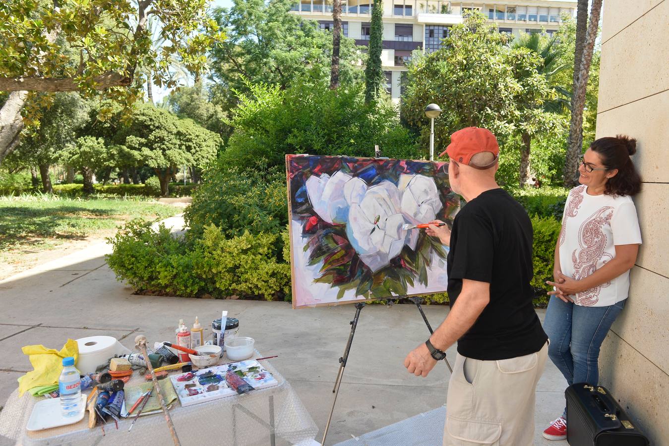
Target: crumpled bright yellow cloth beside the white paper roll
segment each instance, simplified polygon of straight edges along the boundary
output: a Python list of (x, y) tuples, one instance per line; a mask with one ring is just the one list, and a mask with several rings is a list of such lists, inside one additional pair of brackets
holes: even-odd
[(79, 345), (73, 339), (68, 339), (60, 352), (43, 345), (27, 345), (21, 350), (28, 355), (34, 370), (19, 378), (20, 396), (33, 387), (58, 384), (58, 377), (63, 371), (63, 358), (72, 356), (76, 364), (79, 356)]

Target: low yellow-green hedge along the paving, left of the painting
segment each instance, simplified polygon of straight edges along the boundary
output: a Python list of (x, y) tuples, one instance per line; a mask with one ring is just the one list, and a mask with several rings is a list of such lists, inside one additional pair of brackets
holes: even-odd
[(113, 250), (106, 258), (118, 280), (139, 292), (290, 300), (290, 265), (278, 259), (277, 238), (248, 231), (226, 238), (213, 225), (199, 239), (175, 238), (165, 225), (156, 232), (151, 222), (136, 219), (108, 239)]

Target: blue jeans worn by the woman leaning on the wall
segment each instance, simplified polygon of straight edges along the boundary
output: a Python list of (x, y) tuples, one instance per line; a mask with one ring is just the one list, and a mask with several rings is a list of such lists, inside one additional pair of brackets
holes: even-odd
[[(584, 307), (551, 296), (544, 331), (551, 344), (548, 356), (567, 383), (599, 381), (599, 347), (622, 312), (625, 300), (606, 307)], [(563, 413), (567, 418), (567, 409)]]

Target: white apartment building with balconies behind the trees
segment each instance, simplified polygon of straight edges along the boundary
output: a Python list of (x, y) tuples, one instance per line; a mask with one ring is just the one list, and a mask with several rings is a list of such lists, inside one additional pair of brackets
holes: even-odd
[[(332, 29), (332, 0), (298, 0), (296, 14), (318, 21), (322, 29)], [(342, 29), (346, 37), (358, 45), (369, 43), (373, 0), (342, 0)], [(386, 89), (399, 102), (403, 94), (403, 72), (411, 53), (420, 49), (436, 51), (450, 27), (462, 23), (462, 14), (469, 10), (484, 13), (488, 21), (498, 25), (500, 33), (518, 35), (557, 31), (563, 15), (574, 16), (576, 0), (572, 1), (383, 1), (383, 53), (381, 62), (386, 76)]]

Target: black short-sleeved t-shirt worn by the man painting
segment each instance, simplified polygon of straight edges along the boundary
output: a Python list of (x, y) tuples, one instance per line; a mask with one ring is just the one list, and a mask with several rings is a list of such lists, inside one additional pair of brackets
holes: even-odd
[(458, 353), (497, 360), (541, 350), (547, 336), (532, 304), (532, 223), (503, 189), (485, 191), (456, 215), (448, 253), (448, 297), (462, 280), (490, 284), (490, 302), (458, 340)]

